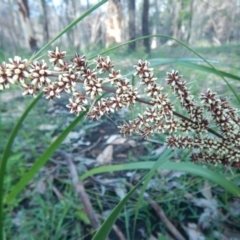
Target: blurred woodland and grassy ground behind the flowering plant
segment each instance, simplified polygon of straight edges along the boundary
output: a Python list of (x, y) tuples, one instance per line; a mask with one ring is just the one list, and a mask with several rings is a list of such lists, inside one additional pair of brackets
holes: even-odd
[[(14, 55), (29, 58), (97, 2), (0, 0), (0, 60), (7, 61)], [(75, 52), (91, 57), (137, 37), (164, 34), (193, 47), (216, 68), (239, 76), (239, 17), (240, 0), (109, 0), (58, 39), (55, 45), (67, 50), (67, 58)], [(213, 71), (199, 71), (201, 63), (190, 65), (199, 63), (199, 59), (194, 60), (193, 53), (173, 40), (149, 38), (109, 52), (109, 55), (116, 69), (121, 69), (128, 77), (139, 58), (150, 60), (162, 85), (165, 85), (165, 72), (178, 68), (190, 83), (194, 96), (209, 87), (221, 96), (230, 97), (239, 107), (221, 78), (212, 74)], [(237, 91), (238, 78), (231, 78), (228, 80)], [(21, 91), (13, 86), (1, 92), (0, 99), (2, 157), (14, 124), (32, 98), (23, 98)], [(176, 104), (176, 111), (181, 112), (176, 98), (173, 97), (172, 102)], [(5, 192), (18, 183), (44, 149), (75, 119), (66, 104), (42, 98), (28, 115), (14, 140), (8, 160)], [(78, 124), (61, 149), (71, 154), (79, 176), (91, 173), (91, 169), (99, 166), (96, 159), (109, 145), (108, 140), (116, 135), (119, 137), (116, 127), (119, 122), (140, 112), (141, 106), (137, 105), (135, 109), (112, 115), (110, 120), (85, 120)], [(154, 136), (146, 141), (134, 136), (125, 144), (113, 144), (113, 157), (108, 164), (118, 164), (124, 169), (127, 163), (155, 161), (163, 151), (163, 142), (164, 136)], [(188, 161), (187, 154), (176, 151), (173, 162)], [(240, 185), (238, 169), (212, 165), (208, 168), (224, 175), (236, 186)], [(126, 168), (110, 173), (106, 169), (97, 177), (84, 179), (86, 192), (101, 220), (106, 219), (126, 192), (146, 174), (145, 170)], [(146, 191), (186, 239), (240, 239), (239, 198), (213, 182), (192, 174), (159, 170)], [(119, 231), (128, 240), (173, 239), (146, 199), (139, 205), (136, 233), (132, 236), (137, 199), (138, 195), (129, 200), (116, 222), (118, 230), (111, 232), (109, 239), (118, 239), (116, 232)], [(24, 191), (8, 204), (4, 213), (6, 239), (74, 240), (93, 236), (93, 228), (74, 190), (67, 164), (58, 154), (49, 159)], [(209, 217), (211, 214), (215, 217), (213, 220)]]

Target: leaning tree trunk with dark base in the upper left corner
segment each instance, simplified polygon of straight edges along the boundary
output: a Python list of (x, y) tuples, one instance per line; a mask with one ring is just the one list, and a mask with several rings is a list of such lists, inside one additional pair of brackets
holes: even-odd
[(33, 26), (30, 20), (28, 0), (18, 0), (18, 10), (20, 13), (24, 36), (28, 42), (28, 46), (31, 51), (34, 52), (37, 50), (37, 39), (33, 31)]

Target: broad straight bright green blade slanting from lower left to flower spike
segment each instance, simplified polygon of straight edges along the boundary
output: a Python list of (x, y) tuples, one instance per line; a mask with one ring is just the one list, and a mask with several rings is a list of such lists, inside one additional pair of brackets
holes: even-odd
[(26, 172), (20, 181), (13, 187), (12, 191), (7, 195), (4, 203), (9, 203), (12, 201), (22, 189), (31, 181), (34, 175), (40, 170), (42, 166), (48, 161), (48, 159), (53, 155), (56, 149), (61, 145), (63, 140), (67, 137), (69, 132), (71, 132), (74, 127), (84, 119), (86, 112), (80, 114), (60, 135), (59, 137), (45, 150), (40, 158), (34, 163), (28, 172)]

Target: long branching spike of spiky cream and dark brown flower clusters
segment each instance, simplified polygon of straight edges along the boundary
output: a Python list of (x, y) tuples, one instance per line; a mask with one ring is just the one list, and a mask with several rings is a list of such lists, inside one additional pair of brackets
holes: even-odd
[[(87, 116), (93, 120), (139, 102), (144, 106), (143, 112), (120, 125), (120, 133), (143, 138), (166, 134), (166, 145), (191, 150), (194, 162), (240, 167), (240, 117), (226, 98), (207, 90), (195, 99), (187, 81), (173, 70), (165, 80), (186, 112), (182, 115), (174, 110), (148, 61), (139, 60), (133, 66), (133, 75), (139, 79), (139, 84), (133, 86), (120, 70), (115, 70), (109, 57), (98, 56), (90, 62), (84, 55), (75, 54), (66, 59), (66, 52), (59, 48), (49, 51), (48, 56), (49, 63), (19, 56), (3, 62), (0, 89), (17, 84), (23, 95), (36, 96), (43, 91), (49, 100), (69, 94), (66, 106), (70, 112), (79, 115), (88, 107)], [(102, 96), (104, 92), (108, 92), (107, 97)]]

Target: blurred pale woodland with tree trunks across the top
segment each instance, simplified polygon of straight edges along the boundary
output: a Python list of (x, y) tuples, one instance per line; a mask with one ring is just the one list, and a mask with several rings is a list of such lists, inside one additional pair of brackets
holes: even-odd
[[(21, 49), (34, 52), (97, 0), (1, 0), (0, 55)], [(149, 34), (165, 34), (191, 45), (239, 43), (239, 0), (109, 0), (56, 44), (89, 51)], [(167, 39), (146, 39), (145, 50)], [(142, 47), (132, 43), (129, 50)]]

